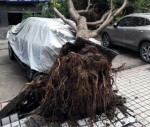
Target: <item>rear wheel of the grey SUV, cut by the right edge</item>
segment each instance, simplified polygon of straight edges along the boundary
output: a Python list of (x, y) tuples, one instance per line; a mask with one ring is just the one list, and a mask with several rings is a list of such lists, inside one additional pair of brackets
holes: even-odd
[(140, 55), (143, 61), (150, 63), (150, 43), (145, 42), (141, 45)]

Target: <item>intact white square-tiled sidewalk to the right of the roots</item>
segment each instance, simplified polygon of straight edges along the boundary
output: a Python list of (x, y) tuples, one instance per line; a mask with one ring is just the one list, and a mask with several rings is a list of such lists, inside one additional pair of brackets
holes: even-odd
[(122, 71), (116, 75), (119, 95), (127, 98), (127, 107), (137, 120), (150, 127), (150, 65)]

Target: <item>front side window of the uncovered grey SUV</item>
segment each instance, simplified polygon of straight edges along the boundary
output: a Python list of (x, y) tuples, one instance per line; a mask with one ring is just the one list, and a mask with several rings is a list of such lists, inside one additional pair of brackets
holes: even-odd
[(122, 26), (122, 27), (130, 26), (131, 19), (132, 19), (132, 17), (123, 18), (118, 22), (117, 25)]

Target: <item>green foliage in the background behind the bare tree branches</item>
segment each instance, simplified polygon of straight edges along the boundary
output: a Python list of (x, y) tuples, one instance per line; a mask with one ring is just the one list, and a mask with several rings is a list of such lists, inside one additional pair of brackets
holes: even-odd
[[(67, 8), (67, 0), (56, 0), (56, 7), (57, 9), (66, 17), (69, 18), (69, 12)], [(86, 9), (87, 7), (87, 0), (72, 0), (75, 8), (77, 10)], [(91, 3), (94, 5), (95, 3), (105, 3), (106, 8), (110, 7), (111, 0), (91, 0)], [(114, 8), (119, 8), (122, 6), (124, 0), (113, 0)], [(24, 11), (23, 19), (28, 17), (57, 17), (53, 12), (53, 2), (50, 0), (47, 6), (44, 6), (44, 3), (36, 4), (36, 8), (42, 8), (41, 14), (33, 14), (30, 10)], [(143, 12), (150, 12), (150, 0), (128, 0), (128, 4), (126, 9), (116, 18), (116, 20), (120, 19), (122, 16), (129, 14), (129, 13), (143, 13)]]

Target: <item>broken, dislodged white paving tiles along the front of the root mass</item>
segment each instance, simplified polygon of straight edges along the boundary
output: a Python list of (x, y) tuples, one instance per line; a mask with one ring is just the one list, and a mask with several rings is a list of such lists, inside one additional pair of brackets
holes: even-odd
[[(60, 124), (59, 127), (145, 127), (134, 117), (130, 115), (123, 115), (119, 109), (116, 109), (115, 114), (116, 115), (112, 120), (109, 120), (105, 114), (102, 114), (101, 116), (96, 116), (95, 120), (85, 118), (75, 121), (75, 125), (65, 122)], [(40, 119), (40, 117), (38, 119)], [(19, 120), (18, 115), (13, 114), (9, 117), (3, 118), (0, 121), (0, 127), (58, 127), (57, 125), (53, 126), (50, 123), (44, 124), (45, 126), (39, 126), (37, 123), (40, 123), (40, 121), (41, 120), (38, 120), (37, 122), (32, 116)], [(130, 125), (130, 123), (132, 123), (132, 125)]]

